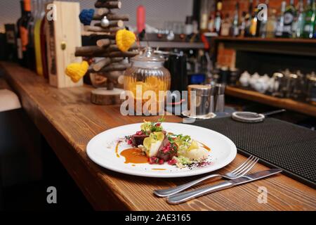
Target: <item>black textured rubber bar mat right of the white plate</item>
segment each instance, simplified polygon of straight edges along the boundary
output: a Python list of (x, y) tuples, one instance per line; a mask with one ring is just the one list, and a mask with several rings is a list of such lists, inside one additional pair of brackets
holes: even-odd
[(225, 117), (193, 125), (228, 136), (239, 153), (254, 155), (263, 164), (316, 188), (316, 131), (273, 118), (247, 124)]

